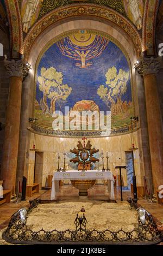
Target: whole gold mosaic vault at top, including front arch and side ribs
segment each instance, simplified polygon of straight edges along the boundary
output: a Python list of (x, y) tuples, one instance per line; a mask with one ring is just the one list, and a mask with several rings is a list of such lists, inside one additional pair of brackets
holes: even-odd
[(5, 1), (11, 39), (10, 55), (17, 58), (21, 53), (28, 58), (29, 45), (46, 27), (67, 17), (86, 15), (89, 19), (98, 16), (121, 27), (133, 40), (137, 56), (141, 51), (145, 52), (144, 55), (156, 56), (155, 24), (159, 3), (159, 0)]

